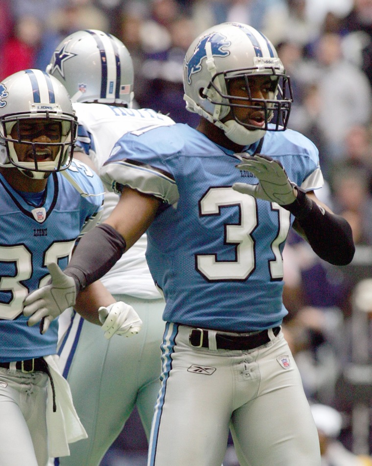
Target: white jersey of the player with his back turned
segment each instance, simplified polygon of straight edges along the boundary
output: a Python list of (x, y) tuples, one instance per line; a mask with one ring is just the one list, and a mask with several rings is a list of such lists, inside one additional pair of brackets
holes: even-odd
[[(92, 159), (99, 170), (111, 154), (116, 141), (129, 131), (139, 134), (158, 126), (173, 125), (169, 117), (153, 110), (130, 109), (107, 104), (73, 104), (79, 122), (78, 147)], [(102, 220), (118, 202), (118, 195), (105, 192)], [(143, 299), (159, 298), (145, 259), (147, 239), (144, 234), (101, 279), (113, 294), (127, 294)]]

